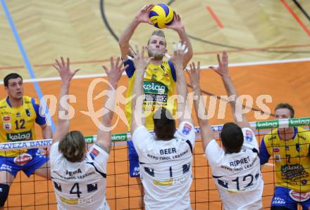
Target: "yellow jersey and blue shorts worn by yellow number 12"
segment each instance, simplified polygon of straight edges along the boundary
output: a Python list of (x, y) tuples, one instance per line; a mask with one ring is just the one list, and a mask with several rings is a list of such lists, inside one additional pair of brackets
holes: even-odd
[[(46, 120), (34, 98), (23, 96), (20, 107), (12, 107), (8, 98), (0, 101), (0, 143), (35, 140), (35, 123), (44, 125)], [(23, 170), (30, 176), (48, 160), (39, 149), (0, 151), (0, 171), (16, 176)]]

